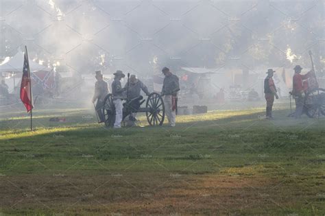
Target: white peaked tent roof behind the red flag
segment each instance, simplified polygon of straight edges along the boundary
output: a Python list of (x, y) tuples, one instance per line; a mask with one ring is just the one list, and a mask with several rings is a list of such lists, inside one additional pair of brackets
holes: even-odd
[[(19, 51), (16, 55), (8, 60), (0, 63), (0, 72), (22, 72), (24, 63), (24, 53)], [(29, 69), (30, 71), (49, 71), (50, 69), (29, 60)]]

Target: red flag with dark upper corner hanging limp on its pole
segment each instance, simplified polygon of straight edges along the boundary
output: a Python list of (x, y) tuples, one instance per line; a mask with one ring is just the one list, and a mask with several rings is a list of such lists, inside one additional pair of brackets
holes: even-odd
[(31, 111), (33, 108), (31, 85), (28, 55), (27, 49), (25, 49), (23, 77), (21, 78), (21, 101), (25, 105), (27, 112)]

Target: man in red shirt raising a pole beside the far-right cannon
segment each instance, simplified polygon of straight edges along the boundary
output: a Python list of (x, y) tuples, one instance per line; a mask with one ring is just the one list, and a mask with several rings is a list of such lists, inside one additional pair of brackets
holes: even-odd
[(304, 96), (308, 86), (304, 84), (304, 80), (308, 79), (311, 76), (312, 71), (301, 75), (302, 67), (296, 65), (293, 68), (295, 74), (293, 75), (293, 85), (292, 85), (292, 95), (296, 102), (296, 112), (295, 117), (299, 119), (302, 115), (302, 109), (304, 108)]

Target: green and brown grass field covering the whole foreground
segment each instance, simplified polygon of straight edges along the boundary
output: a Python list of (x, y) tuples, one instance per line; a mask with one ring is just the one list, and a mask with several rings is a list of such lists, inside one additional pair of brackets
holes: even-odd
[(35, 110), (29, 132), (25, 113), (6, 110), (0, 215), (324, 215), (325, 119), (263, 112), (112, 130), (86, 108)]

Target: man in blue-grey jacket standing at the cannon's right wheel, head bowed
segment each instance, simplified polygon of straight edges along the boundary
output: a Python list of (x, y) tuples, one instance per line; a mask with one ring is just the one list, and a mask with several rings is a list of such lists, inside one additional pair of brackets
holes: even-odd
[(163, 68), (165, 79), (161, 95), (164, 97), (165, 110), (169, 126), (176, 125), (177, 93), (180, 91), (180, 82), (176, 75), (173, 75), (167, 67)]

